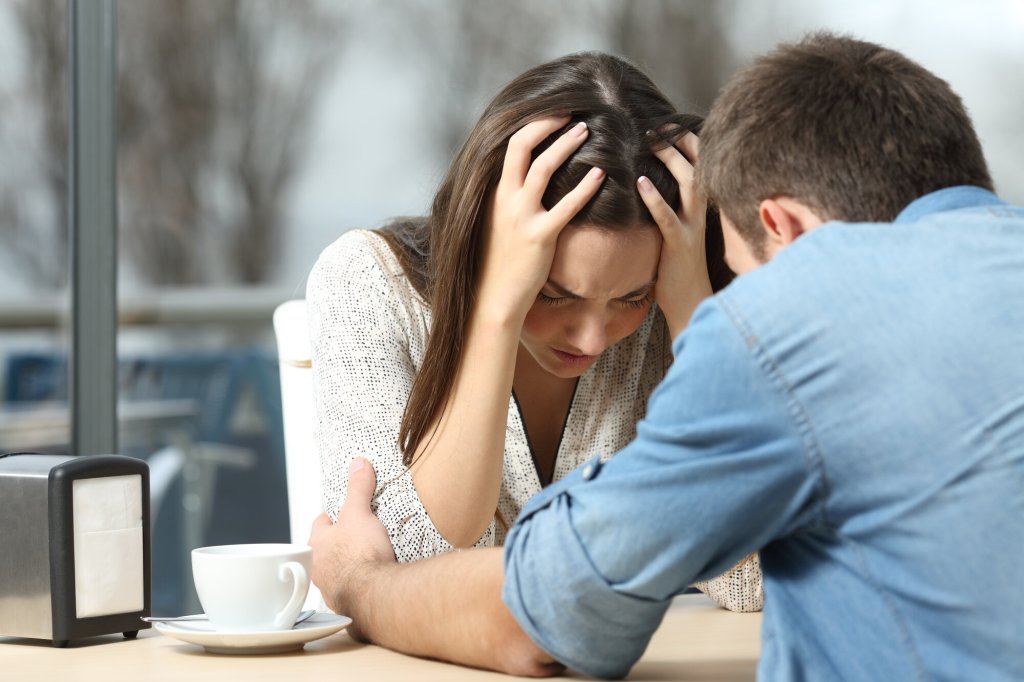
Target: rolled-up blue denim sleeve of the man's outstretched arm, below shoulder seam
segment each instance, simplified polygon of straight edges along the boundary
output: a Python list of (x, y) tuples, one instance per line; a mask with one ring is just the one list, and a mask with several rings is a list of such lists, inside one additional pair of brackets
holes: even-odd
[(817, 513), (813, 438), (768, 358), (715, 305), (677, 341), (637, 438), (523, 509), (503, 598), (558, 662), (614, 678), (672, 598)]

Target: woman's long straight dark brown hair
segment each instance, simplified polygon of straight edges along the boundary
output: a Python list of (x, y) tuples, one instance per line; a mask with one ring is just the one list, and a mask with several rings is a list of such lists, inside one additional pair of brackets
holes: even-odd
[[(701, 118), (677, 113), (636, 67), (610, 54), (584, 52), (536, 67), (506, 85), (456, 156), (430, 215), (398, 219), (382, 230), (407, 276), (430, 301), (433, 316), (398, 434), (407, 465), (455, 383), (482, 262), (487, 201), (501, 177), (509, 137), (531, 121), (566, 114), (571, 121), (539, 145), (535, 157), (580, 121), (587, 123), (589, 136), (552, 175), (542, 201), (546, 208), (593, 167), (605, 171), (604, 181), (569, 224), (609, 230), (655, 226), (636, 189), (641, 175), (670, 206), (679, 206), (678, 182), (652, 148), (698, 130)], [(718, 216), (709, 211), (708, 218), (708, 266), (717, 290), (732, 272), (724, 263)]]

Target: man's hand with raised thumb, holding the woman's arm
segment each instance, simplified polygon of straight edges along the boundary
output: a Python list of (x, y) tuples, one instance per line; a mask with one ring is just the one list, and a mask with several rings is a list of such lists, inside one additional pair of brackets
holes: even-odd
[(367, 460), (355, 458), (348, 467), (348, 494), (338, 511), (338, 522), (327, 514), (313, 521), (309, 546), (313, 548), (312, 582), (327, 605), (337, 613), (353, 616), (349, 632), (362, 638), (354, 617), (356, 599), (366, 598), (372, 571), (395, 563), (394, 550), (384, 525), (370, 510), (377, 475)]

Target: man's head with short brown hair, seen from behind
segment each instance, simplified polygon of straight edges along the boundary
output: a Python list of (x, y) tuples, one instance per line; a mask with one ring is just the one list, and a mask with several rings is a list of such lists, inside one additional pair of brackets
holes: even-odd
[(697, 179), (727, 242), (757, 262), (822, 221), (890, 221), (943, 187), (992, 188), (945, 81), (898, 52), (825, 33), (732, 78), (700, 132)]

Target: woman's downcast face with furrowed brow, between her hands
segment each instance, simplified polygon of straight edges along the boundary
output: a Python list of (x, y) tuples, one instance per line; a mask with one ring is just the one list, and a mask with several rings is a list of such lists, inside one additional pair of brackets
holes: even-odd
[(545, 371), (574, 378), (640, 326), (654, 299), (656, 227), (562, 230), (548, 282), (526, 313), (520, 342)]

